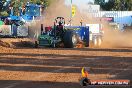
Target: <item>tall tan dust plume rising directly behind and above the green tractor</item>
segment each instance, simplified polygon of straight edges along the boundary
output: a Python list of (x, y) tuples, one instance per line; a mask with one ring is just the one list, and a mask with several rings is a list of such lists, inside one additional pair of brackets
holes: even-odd
[[(64, 0), (55, 0), (50, 4), (49, 7), (43, 13), (40, 21), (34, 21), (30, 24), (30, 37), (33, 38), (36, 34), (40, 34), (40, 25), (44, 24), (44, 27), (53, 26), (56, 17), (64, 17), (66, 24), (70, 23), (71, 18), (71, 6), (65, 5)], [(74, 26), (80, 26), (80, 21), (85, 23), (95, 23), (92, 20), (92, 15), (85, 15), (80, 13), (78, 7), (76, 6), (76, 15), (72, 18), (71, 24)]]

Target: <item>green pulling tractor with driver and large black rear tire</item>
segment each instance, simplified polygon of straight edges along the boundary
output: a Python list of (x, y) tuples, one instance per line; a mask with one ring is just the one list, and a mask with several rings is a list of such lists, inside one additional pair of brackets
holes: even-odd
[(41, 34), (38, 36), (38, 40), (35, 41), (35, 47), (65, 47), (74, 48), (80, 41), (79, 35), (74, 29), (65, 28), (65, 19), (63, 17), (57, 17), (53, 27), (45, 27), (41, 24)]

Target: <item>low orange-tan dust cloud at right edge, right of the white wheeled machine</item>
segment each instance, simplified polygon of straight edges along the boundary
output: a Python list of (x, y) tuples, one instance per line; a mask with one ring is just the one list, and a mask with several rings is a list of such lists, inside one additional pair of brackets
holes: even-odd
[(109, 28), (104, 32), (103, 43), (101, 47), (130, 48), (132, 47), (131, 38), (132, 38), (132, 32), (125, 33)]

